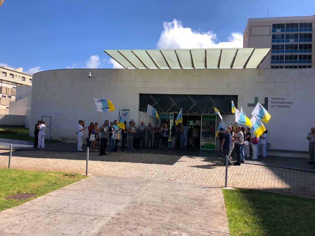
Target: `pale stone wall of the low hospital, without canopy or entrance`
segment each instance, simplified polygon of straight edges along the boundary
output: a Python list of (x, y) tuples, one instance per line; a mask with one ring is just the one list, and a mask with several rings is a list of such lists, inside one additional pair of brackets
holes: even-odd
[[(117, 119), (119, 109), (129, 109), (129, 120), (135, 119), (138, 125), (145, 116), (139, 112), (139, 93), (238, 95), (237, 108), (242, 106), (247, 116), (255, 97), (261, 104), (267, 98), (272, 119), (265, 126), (273, 150), (307, 151), (306, 135), (314, 126), (315, 108), (310, 99), (315, 89), (314, 69), (64, 69), (38, 72), (33, 78), (30, 127), (42, 116), (51, 116), (51, 136), (56, 140), (75, 139), (79, 119), (86, 126), (99, 122), (94, 97), (110, 99), (115, 105), (113, 112), (100, 112), (103, 122)], [(234, 115), (223, 115), (223, 119), (229, 124)], [(155, 119), (147, 117), (148, 121)]]

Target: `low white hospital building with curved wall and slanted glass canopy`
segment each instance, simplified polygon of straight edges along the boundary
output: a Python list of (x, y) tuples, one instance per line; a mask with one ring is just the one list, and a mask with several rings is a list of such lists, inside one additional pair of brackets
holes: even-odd
[[(311, 96), (315, 69), (258, 69), (269, 51), (106, 51), (129, 69), (64, 69), (34, 74), (30, 124), (44, 119), (51, 126), (51, 138), (76, 142), (78, 120), (84, 120), (86, 126), (99, 122), (94, 97), (109, 99), (116, 108), (100, 112), (102, 122), (117, 120), (122, 110), (125, 120), (134, 119), (136, 125), (142, 120), (146, 124), (172, 124), (183, 108), (184, 121), (201, 127), (200, 147), (218, 150), (212, 129), (216, 131), (220, 118), (213, 108), (221, 111), (226, 125), (235, 125), (231, 100), (247, 116), (259, 102), (272, 115), (265, 124), (268, 154), (301, 156), (308, 150), (306, 134), (315, 123)], [(157, 109), (159, 120), (146, 116), (147, 104)], [(30, 136), (32, 133), (30, 130)]]

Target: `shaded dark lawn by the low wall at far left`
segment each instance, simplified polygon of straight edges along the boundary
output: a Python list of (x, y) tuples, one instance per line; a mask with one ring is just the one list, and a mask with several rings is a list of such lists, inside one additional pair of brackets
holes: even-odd
[[(14, 140), (23, 140), (23, 141), (35, 141), (35, 138), (29, 136), (29, 129), (26, 129), (24, 127), (19, 127), (19, 126), (0, 126), (0, 131), (6, 131), (6, 130), (11, 130), (11, 131), (17, 131), (17, 134), (3, 134), (0, 133), (0, 138), (7, 138), (7, 139), (14, 139)], [(45, 139), (45, 143), (60, 143), (57, 140), (48, 140)]]

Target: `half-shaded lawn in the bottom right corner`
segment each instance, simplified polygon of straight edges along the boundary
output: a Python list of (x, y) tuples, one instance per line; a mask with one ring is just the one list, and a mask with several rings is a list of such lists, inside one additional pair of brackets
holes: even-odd
[(315, 200), (223, 189), (231, 235), (314, 235)]

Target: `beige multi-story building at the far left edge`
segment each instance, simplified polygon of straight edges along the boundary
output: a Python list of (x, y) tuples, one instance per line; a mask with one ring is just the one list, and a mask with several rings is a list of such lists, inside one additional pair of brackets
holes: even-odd
[(9, 102), (15, 101), (16, 86), (31, 86), (32, 76), (23, 73), (23, 68), (0, 65), (0, 115), (9, 114)]

